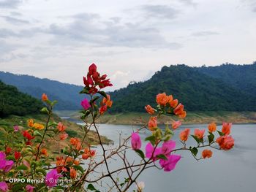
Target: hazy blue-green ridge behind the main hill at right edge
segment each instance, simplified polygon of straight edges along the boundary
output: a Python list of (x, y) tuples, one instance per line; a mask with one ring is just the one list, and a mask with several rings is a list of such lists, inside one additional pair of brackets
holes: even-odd
[(241, 91), (256, 95), (256, 61), (252, 65), (222, 64), (221, 66), (202, 66), (197, 69), (199, 72), (219, 78)]

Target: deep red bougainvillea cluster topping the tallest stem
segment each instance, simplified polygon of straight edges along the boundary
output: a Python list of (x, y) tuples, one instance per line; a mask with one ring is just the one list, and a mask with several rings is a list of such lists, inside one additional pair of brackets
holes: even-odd
[(97, 72), (97, 66), (95, 64), (91, 64), (89, 66), (89, 72), (86, 77), (83, 77), (83, 83), (86, 85), (86, 88), (89, 90), (89, 93), (95, 94), (98, 91), (97, 86), (99, 88), (105, 88), (108, 86), (113, 86), (107, 78), (107, 74), (103, 74), (100, 76), (99, 72)]

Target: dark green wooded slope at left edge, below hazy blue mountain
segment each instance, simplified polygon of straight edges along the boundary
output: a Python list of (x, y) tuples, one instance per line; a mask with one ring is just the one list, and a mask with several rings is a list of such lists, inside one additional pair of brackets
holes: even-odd
[(43, 104), (12, 85), (0, 81), (0, 118), (8, 115), (30, 115), (39, 113)]

